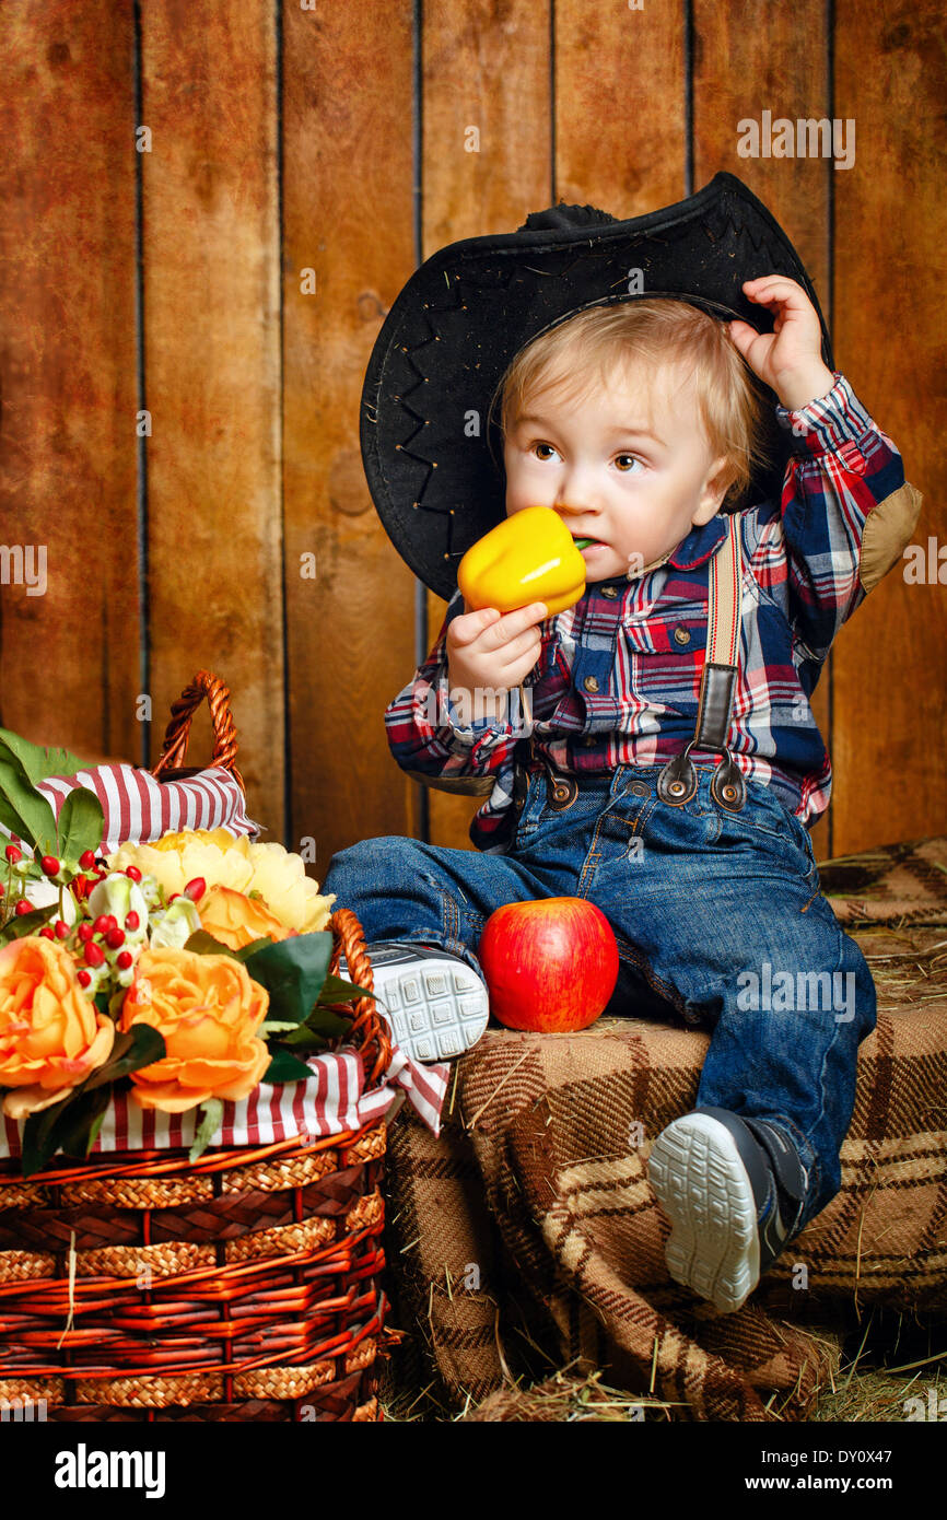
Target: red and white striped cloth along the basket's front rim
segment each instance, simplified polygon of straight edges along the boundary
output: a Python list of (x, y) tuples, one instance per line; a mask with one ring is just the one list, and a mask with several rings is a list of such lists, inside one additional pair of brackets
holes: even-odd
[[(223, 1120), (213, 1146), (257, 1146), (295, 1135), (313, 1140), (322, 1135), (362, 1129), (386, 1114), (404, 1088), (407, 1100), (418, 1110), (427, 1128), (441, 1132), (441, 1108), (447, 1093), (450, 1067), (418, 1066), (400, 1046), (394, 1046), (385, 1082), (365, 1091), (365, 1070), (357, 1050), (318, 1055), (309, 1062), (313, 1075), (307, 1082), (268, 1085), (261, 1082), (239, 1104), (223, 1104)], [(102, 1128), (91, 1149), (164, 1151), (192, 1145), (201, 1113), (166, 1114), (155, 1108), (140, 1108), (132, 1093), (116, 1093), (105, 1110)], [(0, 1116), (0, 1157), (21, 1152), (26, 1120)]]

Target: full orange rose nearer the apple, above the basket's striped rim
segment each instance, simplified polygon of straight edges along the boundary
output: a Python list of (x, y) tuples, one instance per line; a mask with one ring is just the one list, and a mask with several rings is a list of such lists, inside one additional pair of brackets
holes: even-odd
[(143, 950), (119, 1028), (150, 1024), (167, 1053), (131, 1073), (141, 1108), (176, 1114), (252, 1093), (271, 1061), (257, 1038), (268, 1006), (269, 993), (231, 956)]

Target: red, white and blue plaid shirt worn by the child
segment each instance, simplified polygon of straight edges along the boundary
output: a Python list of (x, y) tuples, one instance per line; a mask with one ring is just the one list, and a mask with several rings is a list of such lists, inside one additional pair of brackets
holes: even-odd
[[(739, 512), (742, 638), (728, 746), (745, 777), (772, 786), (810, 825), (828, 806), (831, 762), (809, 699), (835, 635), (866, 594), (859, 565), (868, 514), (904, 483), (904, 471), (838, 371), (827, 395), (798, 410), (777, 406), (777, 418), (793, 435), (781, 503)], [(710, 559), (725, 537), (717, 514), (657, 568), (596, 582), (547, 619), (527, 699), (514, 689), (497, 719), (465, 724), (450, 701), (445, 637), (464, 613), (458, 590), (430, 655), (385, 711), (398, 765), (445, 781), (486, 778), (482, 789), (493, 789), (470, 838), (505, 854), (515, 833), (517, 745), (523, 757), (532, 737), (537, 758), (579, 777), (679, 754), (695, 733)], [(690, 757), (717, 758), (696, 745)]]

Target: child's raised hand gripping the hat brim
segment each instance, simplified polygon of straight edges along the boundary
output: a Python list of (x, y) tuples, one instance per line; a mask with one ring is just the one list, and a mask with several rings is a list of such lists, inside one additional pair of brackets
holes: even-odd
[(789, 275), (760, 275), (743, 281), (743, 293), (775, 315), (772, 333), (757, 333), (734, 319), (730, 336), (749, 368), (771, 386), (783, 406), (798, 410), (835, 385), (822, 363), (822, 328), (812, 301)]

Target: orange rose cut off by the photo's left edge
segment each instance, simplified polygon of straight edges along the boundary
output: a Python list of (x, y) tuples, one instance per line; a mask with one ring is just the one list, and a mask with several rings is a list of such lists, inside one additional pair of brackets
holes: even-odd
[(111, 1055), (116, 1026), (76, 980), (55, 939), (27, 935), (0, 950), (0, 1087), (3, 1113), (50, 1108)]

